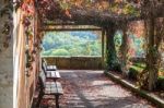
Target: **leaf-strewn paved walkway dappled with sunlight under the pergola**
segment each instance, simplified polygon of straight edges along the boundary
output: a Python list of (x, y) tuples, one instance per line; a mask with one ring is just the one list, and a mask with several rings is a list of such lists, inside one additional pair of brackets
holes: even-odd
[[(103, 71), (67, 70), (60, 74), (65, 91), (61, 108), (154, 108), (107, 79)], [(55, 108), (54, 100), (48, 104), (47, 108)]]

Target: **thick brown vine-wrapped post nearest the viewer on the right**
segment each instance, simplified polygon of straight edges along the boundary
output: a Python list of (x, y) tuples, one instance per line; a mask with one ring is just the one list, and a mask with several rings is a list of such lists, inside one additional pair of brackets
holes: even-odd
[[(162, 19), (156, 19), (156, 8), (161, 1), (143, 0), (142, 13), (144, 14), (144, 25), (147, 35), (147, 56), (145, 69), (140, 73), (138, 80), (139, 85), (149, 91), (156, 88), (157, 72), (161, 64), (160, 45), (164, 37), (164, 22)], [(161, 23), (160, 23), (161, 22)]]

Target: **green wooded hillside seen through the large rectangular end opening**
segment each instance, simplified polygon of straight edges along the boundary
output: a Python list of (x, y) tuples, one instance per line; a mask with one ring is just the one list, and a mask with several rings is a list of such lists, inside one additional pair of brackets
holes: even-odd
[(101, 56), (101, 38), (92, 32), (46, 33), (43, 56)]

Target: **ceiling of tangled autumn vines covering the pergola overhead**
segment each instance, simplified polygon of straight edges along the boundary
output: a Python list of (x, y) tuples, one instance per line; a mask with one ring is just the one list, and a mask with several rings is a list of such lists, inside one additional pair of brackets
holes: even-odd
[[(37, 0), (37, 10), (43, 22), (105, 25), (142, 19), (147, 1), (150, 0)], [(164, 1), (154, 1), (154, 10), (161, 14)]]

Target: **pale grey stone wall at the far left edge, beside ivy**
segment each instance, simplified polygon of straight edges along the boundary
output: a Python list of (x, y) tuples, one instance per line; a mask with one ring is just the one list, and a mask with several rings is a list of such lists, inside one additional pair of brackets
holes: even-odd
[[(4, 7), (4, 0), (0, 0), (0, 9)], [(13, 106), (13, 39), (10, 39), (8, 48), (4, 47), (7, 36), (2, 28), (8, 16), (0, 17), (0, 108)]]

